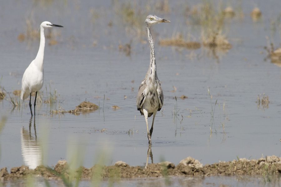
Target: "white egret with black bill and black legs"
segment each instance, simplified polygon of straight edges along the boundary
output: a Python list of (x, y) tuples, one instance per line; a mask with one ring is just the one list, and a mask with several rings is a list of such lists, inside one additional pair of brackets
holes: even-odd
[(63, 27), (60, 25), (55, 25), (50, 22), (42, 22), (40, 25), (40, 45), (37, 56), (30, 65), (25, 70), (22, 76), (22, 92), (21, 99), (24, 100), (28, 98), (29, 95), (29, 108), (32, 115), (31, 109), (31, 93), (35, 92), (35, 100), (34, 100), (34, 115), (35, 115), (35, 105), (36, 105), (36, 97), (37, 91), (39, 91), (43, 86), (43, 78), (44, 78), (44, 70), (43, 70), (43, 62), (44, 62), (44, 49), (45, 49), (45, 35), (44, 28), (47, 27)]

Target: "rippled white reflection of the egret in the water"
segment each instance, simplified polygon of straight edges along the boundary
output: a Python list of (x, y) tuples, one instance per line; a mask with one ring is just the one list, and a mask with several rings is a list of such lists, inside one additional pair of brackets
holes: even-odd
[(29, 122), (29, 131), (21, 128), (21, 142), (22, 142), (22, 158), (25, 165), (30, 169), (35, 169), (38, 165), (42, 164), (42, 152), (39, 143), (37, 142), (36, 127), (34, 119), (34, 135), (31, 135), (31, 122)]

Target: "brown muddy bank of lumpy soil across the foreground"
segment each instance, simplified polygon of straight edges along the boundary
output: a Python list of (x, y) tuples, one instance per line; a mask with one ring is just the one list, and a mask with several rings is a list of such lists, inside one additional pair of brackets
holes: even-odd
[(7, 168), (0, 170), (1, 180), (26, 178), (30, 175), (42, 176), (48, 179), (69, 178), (70, 175), (90, 180), (92, 176), (98, 178), (143, 178), (165, 176), (215, 176), (215, 175), (281, 175), (281, 157), (267, 156), (258, 160), (245, 158), (229, 162), (219, 162), (202, 165), (198, 160), (187, 157), (178, 165), (171, 162), (149, 164), (144, 166), (129, 166), (118, 161), (112, 166), (94, 165), (92, 168), (80, 167), (71, 171), (66, 161), (58, 161), (55, 167), (37, 166), (30, 170), (27, 166), (14, 167), (10, 173)]

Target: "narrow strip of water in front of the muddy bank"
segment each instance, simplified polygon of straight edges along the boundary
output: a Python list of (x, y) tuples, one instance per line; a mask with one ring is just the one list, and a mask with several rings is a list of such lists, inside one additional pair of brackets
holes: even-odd
[[(5, 186), (21, 186), (23, 184), (32, 184), (33, 186), (43, 185), (45, 181), (42, 178), (36, 178), (32, 182), (14, 180), (9, 181)], [(64, 186), (62, 181), (47, 180), (51, 186)], [(45, 183), (46, 184), (46, 183)], [(112, 182), (110, 180), (101, 181), (100, 186), (237, 186), (237, 187), (273, 187), (280, 186), (280, 179), (274, 178), (267, 181), (261, 176), (217, 176), (217, 177), (169, 177), (169, 178), (147, 178), (147, 179), (128, 179)], [(90, 181), (81, 181), (79, 186), (93, 186)]]

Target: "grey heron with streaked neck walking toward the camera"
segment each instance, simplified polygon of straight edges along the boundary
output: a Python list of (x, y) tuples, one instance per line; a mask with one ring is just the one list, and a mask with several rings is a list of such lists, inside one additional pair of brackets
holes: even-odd
[[(145, 27), (148, 36), (149, 46), (150, 46), (150, 65), (145, 75), (145, 79), (143, 79), (143, 81), (141, 82), (137, 95), (136, 105), (137, 105), (137, 109), (141, 112), (141, 115), (144, 115), (145, 117), (149, 144), (151, 144), (151, 135), (153, 131), (153, 123), (154, 123), (156, 112), (161, 110), (164, 101), (163, 91), (156, 72), (156, 59), (155, 59), (155, 52), (154, 52), (154, 44), (150, 33), (150, 26), (155, 23), (165, 23), (165, 22), (170, 22), (170, 21), (159, 18), (155, 15), (149, 15), (145, 19)], [(153, 114), (152, 125), (149, 131), (148, 117), (150, 117), (152, 114)]]

